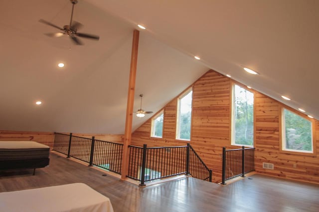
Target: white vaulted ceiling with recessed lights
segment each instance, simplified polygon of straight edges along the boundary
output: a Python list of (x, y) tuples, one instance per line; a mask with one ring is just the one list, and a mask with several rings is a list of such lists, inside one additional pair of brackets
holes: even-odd
[[(69, 0), (0, 1), (0, 130), (123, 134), (136, 24), (147, 30), (135, 110), (139, 94), (143, 109), (156, 112), (213, 69), (319, 119), (318, 0), (79, 0), (78, 31), (100, 36), (81, 39), (84, 46), (45, 36), (58, 29), (38, 22), (67, 25), (71, 7)], [(149, 117), (135, 117), (133, 128)]]

